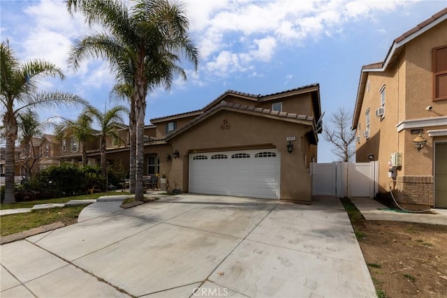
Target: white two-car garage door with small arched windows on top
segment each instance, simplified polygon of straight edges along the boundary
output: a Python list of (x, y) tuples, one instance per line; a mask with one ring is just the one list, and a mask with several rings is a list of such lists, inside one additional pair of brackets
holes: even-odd
[(189, 192), (279, 199), (275, 149), (189, 154)]

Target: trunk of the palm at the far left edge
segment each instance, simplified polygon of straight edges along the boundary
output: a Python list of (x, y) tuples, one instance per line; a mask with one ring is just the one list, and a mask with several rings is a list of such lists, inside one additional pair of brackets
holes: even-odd
[(5, 199), (4, 204), (15, 203), (15, 139), (17, 138), (17, 121), (12, 113), (6, 112), (3, 125), (6, 132), (5, 148)]

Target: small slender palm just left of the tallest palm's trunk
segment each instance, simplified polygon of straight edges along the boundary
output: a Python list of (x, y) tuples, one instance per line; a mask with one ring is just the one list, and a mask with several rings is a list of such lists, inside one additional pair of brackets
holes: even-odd
[(124, 123), (124, 119), (122, 117), (122, 112), (128, 112), (127, 107), (122, 105), (118, 105), (117, 107), (112, 107), (110, 110), (105, 112), (100, 112), (95, 107), (88, 107), (85, 111), (85, 114), (91, 115), (96, 121), (98, 121), (99, 125), (99, 142), (100, 142), (100, 151), (101, 151), (101, 174), (105, 177), (105, 171), (107, 169), (107, 165), (105, 163), (105, 153), (106, 153), (106, 141), (107, 137), (111, 136), (115, 139), (119, 139), (119, 134), (115, 130), (115, 124)]

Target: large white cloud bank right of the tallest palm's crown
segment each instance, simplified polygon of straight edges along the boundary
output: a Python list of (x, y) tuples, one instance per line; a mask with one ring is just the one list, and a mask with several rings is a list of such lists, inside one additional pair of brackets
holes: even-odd
[(402, 0), (188, 1), (202, 59), (207, 70), (219, 70), (217, 75), (270, 61), (280, 44), (335, 38), (349, 22), (372, 19), (376, 12), (406, 4)]

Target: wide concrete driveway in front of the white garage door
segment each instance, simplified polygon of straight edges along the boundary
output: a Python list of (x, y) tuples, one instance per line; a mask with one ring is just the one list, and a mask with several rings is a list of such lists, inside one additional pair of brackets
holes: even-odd
[(80, 223), (2, 245), (1, 297), (376, 295), (337, 199), (117, 204), (91, 204)]

